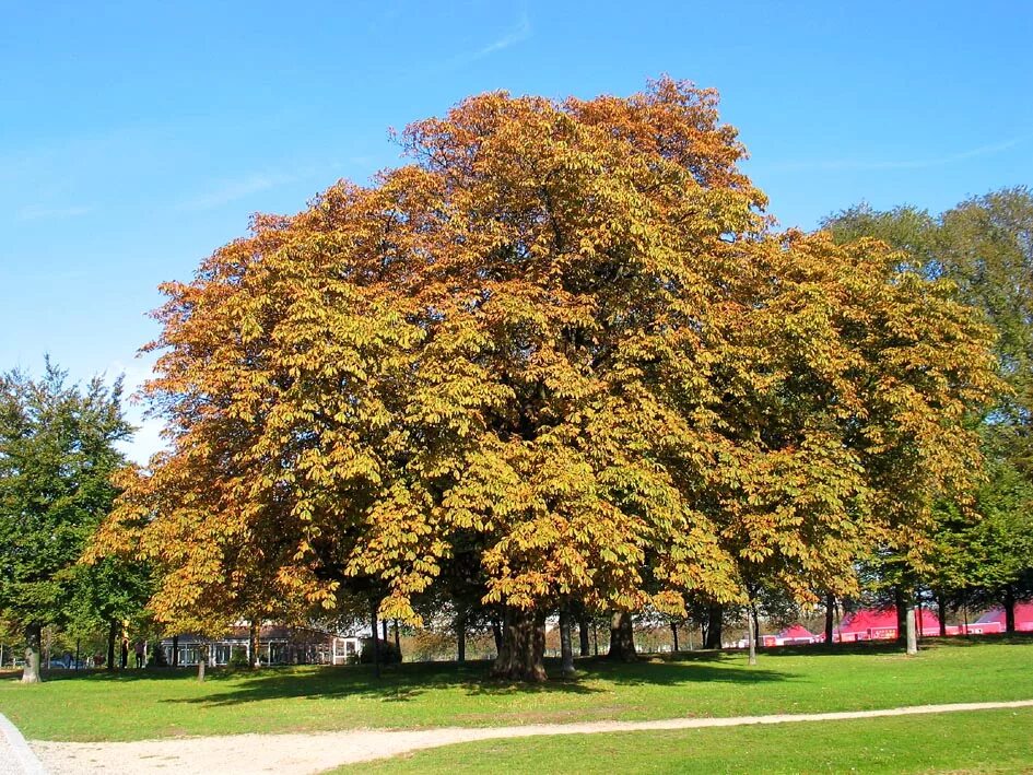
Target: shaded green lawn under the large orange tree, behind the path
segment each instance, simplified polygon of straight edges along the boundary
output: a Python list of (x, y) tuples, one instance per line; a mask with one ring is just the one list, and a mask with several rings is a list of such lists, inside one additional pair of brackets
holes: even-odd
[(486, 681), (484, 662), (402, 665), (379, 681), (365, 666), (210, 671), (204, 683), (186, 670), (55, 671), (42, 685), (0, 681), (0, 713), (39, 740), (740, 716), (1033, 700), (1031, 665), (1033, 637), (1014, 636), (926, 642), (911, 658), (866, 644), (773, 649), (754, 668), (703, 651), (586, 659), (579, 680), (540, 686)]

